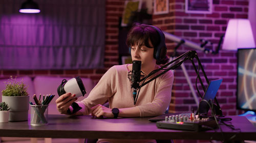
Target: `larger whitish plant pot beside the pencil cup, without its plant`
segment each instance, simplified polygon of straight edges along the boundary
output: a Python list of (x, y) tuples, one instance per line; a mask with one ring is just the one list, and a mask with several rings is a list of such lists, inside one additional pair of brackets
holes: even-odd
[(2, 101), (10, 107), (9, 121), (28, 120), (29, 96), (2, 96)]

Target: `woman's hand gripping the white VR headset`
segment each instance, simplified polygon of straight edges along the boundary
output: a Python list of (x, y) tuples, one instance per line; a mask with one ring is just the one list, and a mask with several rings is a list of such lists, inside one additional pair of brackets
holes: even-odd
[(56, 107), (57, 110), (61, 114), (68, 114), (68, 109), (71, 106), (73, 102), (77, 100), (77, 98), (74, 98), (76, 95), (71, 93), (65, 93), (61, 95), (59, 98), (56, 99)]

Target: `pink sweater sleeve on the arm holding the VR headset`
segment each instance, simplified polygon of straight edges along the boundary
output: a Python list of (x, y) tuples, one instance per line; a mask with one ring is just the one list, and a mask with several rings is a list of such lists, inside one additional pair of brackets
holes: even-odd
[(113, 80), (115, 80), (115, 75), (116, 69), (115, 67), (111, 67), (101, 77), (89, 96), (86, 99), (77, 102), (78, 105), (82, 107), (82, 109), (79, 110), (82, 115), (89, 115), (93, 106), (105, 103), (112, 95), (114, 95), (116, 92), (116, 82), (113, 82)]

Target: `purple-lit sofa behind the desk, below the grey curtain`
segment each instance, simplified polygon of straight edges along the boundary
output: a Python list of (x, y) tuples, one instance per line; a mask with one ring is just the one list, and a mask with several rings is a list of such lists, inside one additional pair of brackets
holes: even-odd
[[(50, 102), (48, 107), (48, 113), (50, 115), (60, 114), (56, 109), (55, 100), (59, 97), (57, 93), (57, 88), (61, 84), (61, 81), (63, 79), (71, 79), (73, 77), (54, 77), (54, 76), (35, 76), (34, 78), (31, 78), (29, 76), (24, 77), (17, 77), (17, 81), (23, 80), (23, 82), (28, 86), (28, 94), (29, 94), (29, 100), (34, 103), (33, 95), (37, 95), (37, 98), (39, 98), (39, 94), (41, 95), (47, 95), (47, 94), (55, 94), (55, 97)], [(4, 82), (8, 81), (9, 78), (0, 79), (0, 91), (5, 89)], [(90, 78), (83, 78), (81, 77), (82, 82), (84, 84), (84, 88), (86, 88), (87, 94), (84, 95), (84, 97), (79, 97), (78, 101), (83, 100), (86, 98), (91, 90), (94, 87), (94, 83)], [(0, 93), (2, 96), (2, 92)], [(42, 98), (42, 97), (41, 97)], [(2, 97), (0, 99), (0, 102), (2, 102)], [(29, 104), (29, 103), (28, 103)], [(30, 113), (30, 112), (29, 112)]]

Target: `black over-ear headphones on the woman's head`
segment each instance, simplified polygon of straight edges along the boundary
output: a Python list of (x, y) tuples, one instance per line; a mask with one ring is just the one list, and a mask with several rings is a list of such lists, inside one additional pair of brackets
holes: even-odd
[[(154, 58), (156, 60), (160, 60), (160, 55), (162, 52), (164, 52), (166, 50), (166, 45), (165, 45), (165, 39), (164, 39), (164, 34), (163, 32), (156, 26), (150, 25), (152, 28), (154, 28), (157, 33), (160, 36), (160, 43), (159, 45), (154, 48)], [(131, 47), (129, 47), (129, 52), (131, 53)]]

